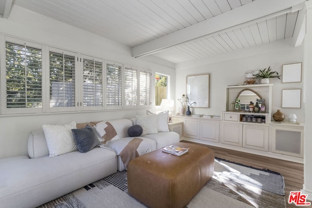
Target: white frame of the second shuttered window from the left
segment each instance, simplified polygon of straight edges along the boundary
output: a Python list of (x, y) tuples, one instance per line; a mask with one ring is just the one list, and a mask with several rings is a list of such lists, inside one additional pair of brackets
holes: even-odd
[[(50, 52), (59, 53), (59, 54), (64, 53), (65, 55), (75, 57), (75, 101), (74, 101), (75, 106), (73, 107), (50, 107)], [(46, 57), (46, 71), (47, 71), (46, 73), (46, 80), (47, 80), (46, 109), (47, 109), (47, 112), (74, 112), (74, 111), (78, 112), (78, 104), (80, 101), (80, 97), (78, 94), (79, 73), (81, 72), (81, 70), (79, 70), (78, 53), (61, 50), (58, 48), (48, 47), (47, 57)]]

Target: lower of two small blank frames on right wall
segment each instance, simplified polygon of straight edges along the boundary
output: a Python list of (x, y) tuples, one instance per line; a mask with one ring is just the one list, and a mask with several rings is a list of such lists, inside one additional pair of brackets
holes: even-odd
[(282, 108), (301, 108), (301, 89), (282, 90)]

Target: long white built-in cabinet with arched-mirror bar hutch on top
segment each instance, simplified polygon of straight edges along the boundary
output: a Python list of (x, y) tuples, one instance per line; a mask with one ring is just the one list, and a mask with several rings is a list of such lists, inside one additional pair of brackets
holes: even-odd
[[(303, 126), (271, 121), (273, 84), (229, 86), (226, 111), (221, 118), (174, 116), (183, 123), (181, 139), (236, 151), (303, 163)], [(265, 99), (265, 113), (231, 111), (231, 102), (244, 89), (252, 89)], [(245, 122), (243, 117), (261, 117), (261, 123)]]

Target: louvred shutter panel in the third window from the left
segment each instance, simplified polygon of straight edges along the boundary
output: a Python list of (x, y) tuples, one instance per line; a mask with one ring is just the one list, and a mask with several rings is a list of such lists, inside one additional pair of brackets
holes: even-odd
[[(102, 107), (103, 63), (83, 58), (83, 106)], [(102, 108), (94, 108), (102, 109)]]

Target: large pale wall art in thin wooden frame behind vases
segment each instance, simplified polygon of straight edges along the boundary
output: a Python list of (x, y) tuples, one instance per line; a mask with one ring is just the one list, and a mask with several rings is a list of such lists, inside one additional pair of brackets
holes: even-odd
[(210, 74), (186, 77), (186, 94), (189, 101), (196, 102), (195, 108), (209, 108)]

